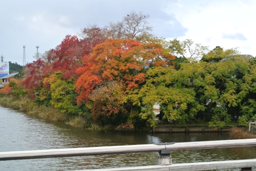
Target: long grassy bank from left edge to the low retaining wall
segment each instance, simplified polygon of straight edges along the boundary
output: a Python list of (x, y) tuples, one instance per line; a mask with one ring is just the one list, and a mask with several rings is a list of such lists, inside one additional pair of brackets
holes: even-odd
[[(1, 95), (1, 94), (0, 94)], [(120, 126), (101, 126), (94, 124), (92, 121), (88, 121), (81, 115), (70, 115), (67, 113), (60, 112), (59, 109), (55, 109), (47, 106), (38, 106), (33, 101), (29, 99), (14, 99), (11, 96), (0, 96), (0, 106), (17, 110), (19, 112), (26, 113), (30, 116), (35, 116), (39, 118), (44, 118), (51, 121), (62, 121), (67, 125), (74, 127), (84, 127), (86, 129), (93, 130), (115, 130), (115, 131), (150, 131), (150, 128), (142, 128), (141, 130), (131, 129), (129, 125), (122, 124)]]

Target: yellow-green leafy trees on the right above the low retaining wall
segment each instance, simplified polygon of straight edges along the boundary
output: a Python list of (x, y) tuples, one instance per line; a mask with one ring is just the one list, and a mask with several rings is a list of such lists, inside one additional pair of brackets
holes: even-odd
[(210, 126), (224, 126), (234, 118), (240, 118), (241, 124), (248, 120), (256, 107), (256, 65), (235, 55), (234, 49), (218, 52), (206, 54), (207, 62), (182, 63), (179, 70), (148, 69), (145, 85), (129, 96), (142, 106), (141, 117), (154, 125), (152, 110), (158, 103), (164, 118), (179, 123), (201, 119), (210, 121)]

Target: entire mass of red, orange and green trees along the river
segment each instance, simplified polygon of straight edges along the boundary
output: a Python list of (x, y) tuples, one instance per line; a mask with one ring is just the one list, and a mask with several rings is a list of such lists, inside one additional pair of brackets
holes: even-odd
[(235, 48), (153, 36), (148, 14), (89, 25), (37, 56), (0, 90), (15, 98), (82, 115), (118, 130), (154, 126), (153, 106), (174, 123), (246, 125), (256, 112), (256, 63)]

